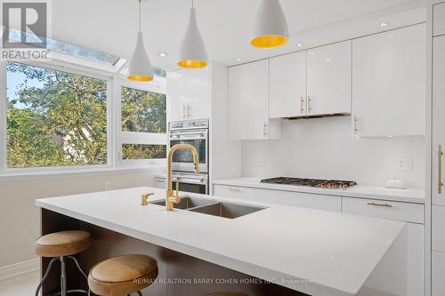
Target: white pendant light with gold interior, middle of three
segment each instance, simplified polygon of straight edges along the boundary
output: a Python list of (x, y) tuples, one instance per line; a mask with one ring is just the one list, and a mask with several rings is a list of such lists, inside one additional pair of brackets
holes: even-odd
[(207, 65), (207, 53), (196, 20), (196, 10), (191, 0), (189, 27), (182, 39), (178, 65), (182, 68), (204, 68)]

